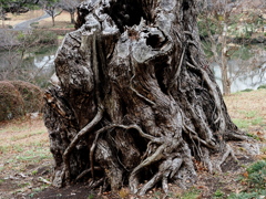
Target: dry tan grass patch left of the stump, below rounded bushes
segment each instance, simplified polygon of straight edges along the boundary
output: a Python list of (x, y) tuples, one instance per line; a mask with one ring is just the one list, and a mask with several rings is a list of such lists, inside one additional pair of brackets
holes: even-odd
[(41, 118), (0, 123), (0, 198), (45, 187), (38, 172), (49, 170), (51, 165), (48, 133)]

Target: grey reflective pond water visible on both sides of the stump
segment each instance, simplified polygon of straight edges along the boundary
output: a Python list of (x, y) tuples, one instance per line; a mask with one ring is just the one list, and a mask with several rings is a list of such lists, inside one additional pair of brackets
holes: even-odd
[[(58, 46), (50, 48), (49, 51), (45, 51), (41, 54), (25, 54), (23, 57), (23, 65), (29, 71), (30, 75), (33, 78), (37, 78), (37, 82), (40, 86), (45, 86), (49, 82), (51, 75), (54, 73), (54, 59)], [(14, 55), (12, 52), (0, 52), (0, 70), (9, 67), (10, 61), (13, 65), (18, 65), (19, 59), (18, 55)], [(264, 64), (260, 64), (263, 63)], [(228, 61), (228, 75), (233, 80), (232, 93), (243, 91), (246, 88), (256, 90), (258, 86), (266, 84), (266, 51), (260, 51), (257, 55), (256, 63), (254, 63), (254, 57), (248, 60), (231, 60)], [(211, 64), (216, 82), (222, 90), (221, 81), (221, 70), (217, 64)], [(2, 71), (2, 70), (1, 70)], [(1, 72), (0, 71), (0, 72)], [(2, 72), (1, 72), (2, 73)], [(1, 77), (1, 75), (0, 75)]]

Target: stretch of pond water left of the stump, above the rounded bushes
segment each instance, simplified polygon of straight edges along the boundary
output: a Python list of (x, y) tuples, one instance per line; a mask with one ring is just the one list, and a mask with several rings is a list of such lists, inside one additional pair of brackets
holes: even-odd
[(22, 80), (45, 87), (54, 73), (54, 54), (58, 46), (41, 49), (41, 52), (0, 52), (0, 81)]

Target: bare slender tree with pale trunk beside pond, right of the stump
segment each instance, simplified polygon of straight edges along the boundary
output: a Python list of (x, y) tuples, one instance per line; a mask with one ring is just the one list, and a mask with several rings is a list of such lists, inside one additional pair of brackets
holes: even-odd
[[(211, 61), (218, 65), (223, 93), (227, 95), (238, 75), (254, 67), (262, 67), (264, 64), (264, 62), (256, 62), (256, 65), (250, 64), (253, 61), (246, 62), (250, 57), (255, 59), (256, 55), (256, 50), (249, 50), (248, 44), (252, 43), (252, 34), (264, 27), (260, 20), (262, 12), (258, 12), (262, 4), (243, 0), (207, 0), (198, 3), (202, 8), (198, 25), (204, 41), (203, 46), (209, 52)], [(264, 33), (260, 34), (263, 36)], [(241, 62), (241, 67), (237, 70), (235, 67), (235, 75), (232, 75), (228, 65), (232, 59)]]

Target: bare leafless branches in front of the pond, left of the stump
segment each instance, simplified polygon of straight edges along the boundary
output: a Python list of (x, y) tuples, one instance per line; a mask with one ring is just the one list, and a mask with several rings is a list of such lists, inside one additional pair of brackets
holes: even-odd
[[(58, 36), (50, 31), (17, 32), (9, 29), (1, 30), (0, 36), (0, 81), (25, 81), (41, 87), (48, 85), (53, 67), (47, 67), (50, 60), (34, 64), (38, 54), (45, 51), (48, 54), (57, 46)], [(49, 56), (47, 56), (49, 57)]]

